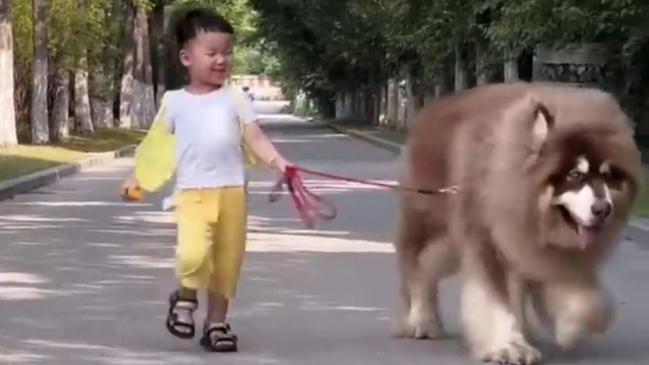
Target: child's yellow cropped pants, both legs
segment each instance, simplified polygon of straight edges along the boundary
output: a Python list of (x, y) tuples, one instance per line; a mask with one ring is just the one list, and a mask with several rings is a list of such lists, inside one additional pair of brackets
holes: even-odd
[(180, 190), (173, 199), (180, 285), (234, 297), (245, 255), (245, 188)]

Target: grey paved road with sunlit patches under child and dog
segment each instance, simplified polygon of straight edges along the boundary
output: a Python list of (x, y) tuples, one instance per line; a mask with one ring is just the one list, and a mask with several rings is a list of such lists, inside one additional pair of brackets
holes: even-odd
[[(289, 116), (263, 124), (300, 164), (394, 179), (387, 151)], [(390, 192), (310, 180), (339, 216), (306, 231), (288, 199), (267, 202), (275, 177), (265, 171), (252, 176), (249, 254), (231, 318), (239, 353), (204, 353), (197, 340), (174, 338), (164, 327), (174, 227), (162, 195), (140, 204), (116, 198), (131, 162), (0, 203), (0, 364), (472, 364), (454, 340), (388, 336), (397, 284)], [(636, 242), (625, 241), (607, 270), (620, 302), (613, 329), (576, 358), (550, 349), (550, 363), (649, 363), (649, 250)], [(443, 287), (452, 333), (456, 289), (456, 281)]]

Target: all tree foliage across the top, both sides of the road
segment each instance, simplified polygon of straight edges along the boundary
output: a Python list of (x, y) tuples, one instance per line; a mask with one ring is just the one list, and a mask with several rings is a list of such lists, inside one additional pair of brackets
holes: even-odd
[[(305, 92), (321, 110), (332, 110), (340, 94), (378, 95), (388, 79), (404, 70), (434, 86), (452, 78), (456, 56), (465, 58), (470, 78), (487, 69), (498, 81), (504, 61), (540, 43), (604, 43), (627, 70), (622, 77), (626, 92), (646, 99), (639, 90), (649, 82), (645, 0), (48, 0), (47, 5), (51, 75), (87, 68), (92, 78), (99, 70), (110, 90), (118, 89), (110, 82), (123, 76), (124, 68), (117, 65), (126, 59), (124, 10), (145, 10), (152, 27), (160, 18), (154, 14), (169, 5), (209, 6), (223, 14), (236, 30), (235, 73), (269, 75), (282, 82), (289, 97)], [(12, 1), (12, 21), (16, 110), (25, 124), (34, 48), (32, 0)], [(154, 71), (168, 71), (167, 77), (156, 72), (154, 81), (175, 86), (180, 70), (167, 64), (177, 53), (163, 49), (171, 45), (169, 34), (165, 38), (153, 29), (148, 34)], [(91, 96), (102, 94), (93, 85)], [(129, 97), (118, 94), (104, 97)]]

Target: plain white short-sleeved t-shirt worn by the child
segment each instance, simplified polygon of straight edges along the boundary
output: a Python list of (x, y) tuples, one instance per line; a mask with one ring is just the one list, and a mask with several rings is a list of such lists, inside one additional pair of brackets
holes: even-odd
[(176, 140), (177, 189), (245, 184), (238, 118), (248, 124), (257, 115), (245, 97), (237, 105), (234, 93), (227, 86), (202, 95), (184, 89), (167, 92), (167, 127)]

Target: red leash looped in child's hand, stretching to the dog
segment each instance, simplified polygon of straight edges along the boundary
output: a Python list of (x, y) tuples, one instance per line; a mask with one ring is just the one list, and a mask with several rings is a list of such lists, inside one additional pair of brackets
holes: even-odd
[(302, 178), (300, 177), (298, 171), (309, 173), (311, 175), (326, 177), (328, 179), (349, 181), (351, 183), (359, 183), (365, 185), (374, 185), (380, 186), (382, 188), (415, 192), (425, 195), (455, 194), (459, 192), (458, 186), (450, 186), (448, 188), (437, 190), (415, 189), (399, 186), (397, 184), (386, 184), (378, 183), (376, 181), (353, 179), (351, 177), (308, 170), (299, 166), (288, 166), (286, 168), (286, 171), (284, 172), (284, 176), (277, 181), (275, 186), (273, 186), (273, 190), (271, 190), (268, 198), (271, 202), (277, 201), (280, 198), (280, 192), (286, 185), (287, 190), (291, 194), (291, 199), (293, 200), (295, 210), (297, 210), (300, 218), (302, 219), (302, 221), (304, 221), (304, 223), (306, 223), (306, 226), (309, 229), (313, 228), (313, 223), (315, 223), (315, 220), (317, 218), (321, 218), (322, 220), (332, 220), (336, 218), (336, 206), (331, 201), (310, 192), (306, 188), (306, 186), (304, 186), (304, 183), (302, 182)]

